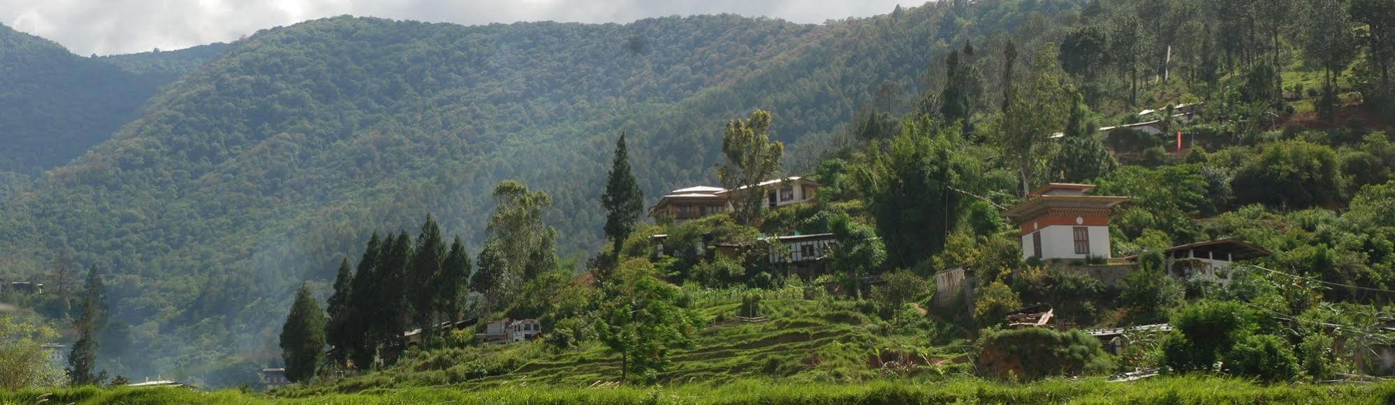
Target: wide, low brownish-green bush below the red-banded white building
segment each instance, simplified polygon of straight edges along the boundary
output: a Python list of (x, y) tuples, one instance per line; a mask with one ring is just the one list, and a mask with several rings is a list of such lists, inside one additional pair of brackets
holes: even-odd
[(983, 373), (1025, 380), (1109, 370), (1109, 358), (1098, 338), (1080, 330), (1041, 327), (989, 333), (978, 362)]

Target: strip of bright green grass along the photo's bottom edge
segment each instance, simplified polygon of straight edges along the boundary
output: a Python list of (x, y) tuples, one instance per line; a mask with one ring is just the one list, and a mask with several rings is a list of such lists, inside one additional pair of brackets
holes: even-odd
[[(52, 392), (52, 394), (49, 394)], [(864, 384), (769, 379), (668, 387), (578, 388), (508, 386), (483, 390), (416, 387), (272, 398), (239, 391), (119, 388), (0, 392), (0, 404), (1387, 404), (1395, 384), (1260, 386), (1218, 377), (1159, 377), (1136, 383), (1101, 379), (1031, 384), (879, 380)]]

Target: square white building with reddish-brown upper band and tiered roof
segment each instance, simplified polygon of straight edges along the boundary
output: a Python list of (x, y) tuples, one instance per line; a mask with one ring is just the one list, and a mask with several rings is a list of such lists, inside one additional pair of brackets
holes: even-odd
[(1023, 256), (1109, 257), (1109, 212), (1126, 196), (1085, 195), (1095, 185), (1052, 182), (1003, 216), (1021, 230)]

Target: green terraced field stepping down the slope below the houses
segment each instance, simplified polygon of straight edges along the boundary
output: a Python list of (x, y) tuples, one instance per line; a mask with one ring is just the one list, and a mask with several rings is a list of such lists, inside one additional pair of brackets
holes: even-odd
[[(957, 347), (933, 347), (926, 319), (910, 306), (890, 319), (858, 303), (780, 298), (762, 302), (763, 323), (718, 323), (741, 306), (716, 299), (699, 309), (709, 320), (691, 348), (658, 374), (665, 384), (777, 377), (795, 381), (866, 381), (896, 372), (887, 363), (928, 365), (936, 374), (963, 370)], [(915, 324), (919, 323), (919, 324)], [(519, 386), (590, 387), (619, 380), (621, 359), (604, 345), (552, 352), (541, 342), (437, 349), (412, 354), (396, 367), (280, 392), (304, 397), (382, 387), (456, 386), (484, 390)]]

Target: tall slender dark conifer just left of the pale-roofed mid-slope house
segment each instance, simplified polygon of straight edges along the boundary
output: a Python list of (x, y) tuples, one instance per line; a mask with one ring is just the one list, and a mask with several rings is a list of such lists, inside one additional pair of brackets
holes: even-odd
[[(625, 238), (629, 238), (629, 234), (635, 231), (639, 214), (644, 210), (644, 193), (639, 189), (639, 181), (629, 170), (625, 132), (621, 132), (619, 141), (615, 141), (615, 160), (611, 163), (610, 177), (605, 181), (605, 192), (601, 193), (601, 206), (605, 207), (605, 238), (611, 241), (611, 255), (614, 256), (611, 264), (614, 266), (619, 262)], [(608, 273), (611, 269), (605, 270)], [(607, 277), (597, 278), (604, 281)]]

